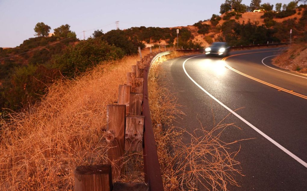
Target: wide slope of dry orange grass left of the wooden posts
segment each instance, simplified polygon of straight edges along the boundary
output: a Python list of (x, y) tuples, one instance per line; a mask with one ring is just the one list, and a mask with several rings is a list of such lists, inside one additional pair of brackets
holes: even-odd
[[(106, 163), (106, 106), (137, 60), (125, 57), (60, 79), (39, 105), (12, 114), (0, 137), (0, 190), (72, 190), (76, 166)], [(131, 157), (138, 158), (125, 159)]]

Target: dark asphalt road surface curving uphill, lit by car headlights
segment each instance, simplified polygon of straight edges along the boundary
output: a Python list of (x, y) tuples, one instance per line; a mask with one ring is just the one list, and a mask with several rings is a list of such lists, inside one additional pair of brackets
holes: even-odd
[(225, 62), (219, 57), (192, 55), (163, 63), (163, 80), (169, 82), (172, 93), (177, 93), (178, 104), (183, 105), (181, 110), (185, 113), (183, 119), (174, 122), (175, 126), (192, 132), (201, 123), (210, 129), (230, 113), (226, 106), (233, 111), (239, 109), (235, 113), (241, 119), (231, 114), (223, 123), (235, 123), (241, 130), (227, 129), (223, 140), (255, 138), (232, 148), (241, 145), (236, 159), (245, 176), (235, 176), (240, 187), (230, 185), (230, 190), (307, 190), (307, 99), (278, 91), (230, 69), (307, 96), (307, 76), (271, 65), (273, 57), (269, 56), (280, 50), (231, 52), (241, 55)]

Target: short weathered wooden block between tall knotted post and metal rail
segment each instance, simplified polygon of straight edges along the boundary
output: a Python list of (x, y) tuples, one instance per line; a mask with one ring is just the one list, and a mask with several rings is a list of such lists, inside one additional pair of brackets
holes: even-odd
[(126, 117), (125, 150), (142, 151), (144, 133), (144, 116)]

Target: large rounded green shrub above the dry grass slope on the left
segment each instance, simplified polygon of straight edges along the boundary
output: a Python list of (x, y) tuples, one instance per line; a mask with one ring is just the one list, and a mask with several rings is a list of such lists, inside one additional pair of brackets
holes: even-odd
[(65, 76), (85, 72), (88, 68), (107, 60), (116, 60), (124, 56), (122, 49), (109, 45), (96, 38), (80, 41), (76, 46), (69, 46), (62, 55), (54, 57), (54, 68), (59, 68)]

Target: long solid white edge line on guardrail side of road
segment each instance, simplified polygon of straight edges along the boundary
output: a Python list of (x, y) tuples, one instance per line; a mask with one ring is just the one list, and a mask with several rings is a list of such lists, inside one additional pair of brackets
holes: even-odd
[[(194, 57), (199, 57), (199, 56), (203, 56), (203, 55), (198, 55), (198, 56), (194, 56)], [(290, 152), (288, 149), (286, 149), (285, 147), (283, 147), (282, 145), (280, 145), (278, 142), (274, 141), (272, 138), (270, 138), (269, 136), (267, 136), (266, 134), (264, 134), (261, 130), (259, 130), (257, 127), (255, 127), (254, 125), (252, 125), (251, 123), (249, 123), (247, 120), (245, 120), (243, 117), (239, 116), (236, 112), (232, 111), (230, 108), (228, 108), (226, 105), (224, 105), (221, 101), (219, 101), (218, 99), (216, 99), (214, 96), (212, 96), (209, 92), (207, 92), (203, 87), (201, 87), (198, 83), (195, 82), (194, 79), (191, 78), (191, 76), (188, 74), (188, 72), (185, 70), (185, 63), (186, 61), (188, 61), (191, 58), (194, 57), (190, 57), (188, 59), (186, 59), (183, 64), (182, 64), (182, 68), (185, 71), (185, 74), (188, 76), (188, 78), (190, 80), (192, 80), (193, 83), (195, 83), (196, 86), (198, 86), (201, 90), (203, 90), (206, 94), (208, 94), (208, 96), (210, 96), (212, 99), (214, 99), (216, 102), (218, 102), (220, 105), (222, 105), (224, 108), (226, 108), (229, 112), (231, 112), (232, 114), (234, 114), (236, 117), (238, 117), (241, 121), (243, 121), (244, 123), (246, 123), (248, 126), (250, 126), (251, 128), (253, 128), (255, 131), (257, 131), (259, 134), (261, 134), (264, 138), (266, 138), (267, 140), (269, 140), (271, 143), (273, 143), (274, 145), (276, 145), (279, 149), (282, 149), (282, 151), (286, 152), (289, 156), (291, 156), (293, 159), (297, 160), (297, 162), (301, 163), (302, 165), (304, 165), (304, 167), (307, 168), (307, 163), (304, 162), (303, 160), (301, 160), (300, 158), (298, 158), (296, 155), (294, 155), (292, 152)]]

